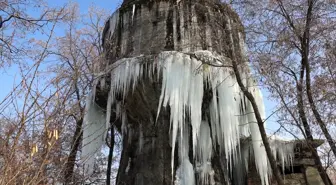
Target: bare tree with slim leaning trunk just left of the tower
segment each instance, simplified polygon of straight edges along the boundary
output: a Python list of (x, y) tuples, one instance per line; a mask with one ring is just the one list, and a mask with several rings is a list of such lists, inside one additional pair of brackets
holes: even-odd
[[(76, 6), (73, 10), (76, 9)], [(71, 151), (64, 169), (64, 177), (67, 183), (72, 182), (76, 156), (80, 150), (82, 141), (82, 129), (84, 118), (83, 100), (87, 96), (93, 83), (94, 68), (102, 60), (101, 33), (107, 13), (102, 9), (91, 7), (88, 14), (79, 17), (73, 12), (66, 36), (58, 38), (57, 48), (51, 51), (59, 58), (62, 65), (55, 68), (57, 80), (62, 84), (71, 84), (72, 98), (76, 102), (73, 118), (75, 119), (75, 131), (71, 141)], [(84, 26), (78, 26), (81, 23)]]

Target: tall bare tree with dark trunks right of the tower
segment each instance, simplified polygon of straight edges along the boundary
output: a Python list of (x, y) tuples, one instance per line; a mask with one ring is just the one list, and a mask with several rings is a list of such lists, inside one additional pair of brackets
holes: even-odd
[(311, 143), (314, 140), (312, 126), (317, 123), (331, 151), (336, 154), (335, 142), (327, 129), (328, 124), (334, 123), (330, 119), (334, 117), (330, 108), (335, 106), (335, 102), (326, 99), (324, 93), (321, 96), (319, 91), (335, 89), (330, 80), (334, 79), (334, 70), (330, 67), (330, 54), (326, 47), (334, 42), (331, 35), (335, 34), (336, 26), (335, 2), (276, 0), (231, 3), (245, 22), (252, 64), (257, 67), (271, 96), (282, 102), (278, 115), (284, 118), (283, 122), (288, 123), (290, 118), (291, 125), (302, 132), (324, 183), (330, 184)]

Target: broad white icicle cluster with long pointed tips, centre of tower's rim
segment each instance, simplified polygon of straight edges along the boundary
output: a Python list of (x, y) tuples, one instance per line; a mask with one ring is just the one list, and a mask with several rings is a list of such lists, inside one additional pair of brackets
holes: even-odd
[(159, 100), (158, 115), (161, 106), (170, 107), (170, 124), (172, 133), (172, 173), (174, 172), (174, 151), (177, 131), (184, 126), (186, 111), (190, 113), (193, 148), (202, 120), (203, 76), (197, 74), (200, 61), (190, 59), (188, 55), (171, 52), (164, 60), (162, 71), (162, 89)]

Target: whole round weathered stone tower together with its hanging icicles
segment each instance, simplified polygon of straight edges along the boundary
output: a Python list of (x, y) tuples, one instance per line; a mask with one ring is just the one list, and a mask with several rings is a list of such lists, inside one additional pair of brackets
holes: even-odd
[[(243, 31), (219, 0), (125, 0), (111, 16), (103, 33), (107, 60), (84, 121), (94, 130), (84, 130), (84, 143), (105, 133), (93, 124), (105, 116), (122, 133), (118, 185), (246, 184), (251, 153), (260, 183), (270, 184), (252, 107), (230, 68), (239, 61), (263, 115), (260, 91), (248, 78)], [(293, 147), (282, 147), (272, 149), (284, 166)]]

